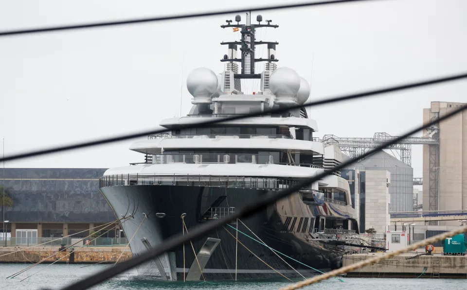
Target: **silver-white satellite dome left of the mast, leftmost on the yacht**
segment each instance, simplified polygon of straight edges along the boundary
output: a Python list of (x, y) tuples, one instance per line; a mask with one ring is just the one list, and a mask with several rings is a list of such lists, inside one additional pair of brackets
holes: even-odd
[(217, 91), (217, 76), (209, 68), (196, 68), (186, 78), (186, 87), (193, 96), (193, 104), (210, 104)]

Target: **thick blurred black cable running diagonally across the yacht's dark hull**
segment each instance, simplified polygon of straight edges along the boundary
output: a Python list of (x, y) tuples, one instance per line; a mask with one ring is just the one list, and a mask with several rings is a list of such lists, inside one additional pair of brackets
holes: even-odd
[(372, 149), (364, 154), (361, 154), (355, 158), (352, 158), (344, 163), (341, 163), (339, 165), (337, 165), (336, 167), (334, 167), (333, 169), (331, 170), (326, 170), (320, 174), (317, 174), (311, 178), (307, 178), (306, 180), (298, 183), (297, 185), (291, 187), (291, 188), (287, 188), (287, 189), (284, 189), (284, 190), (281, 190), (281, 191), (278, 191), (274, 194), (268, 194), (268, 195), (264, 195), (258, 199), (256, 199), (254, 202), (244, 206), (243, 208), (241, 208), (239, 211), (235, 212), (233, 215), (230, 215), (230, 216), (227, 216), (223, 219), (220, 219), (220, 220), (213, 220), (213, 221), (210, 221), (210, 222), (207, 222), (207, 223), (204, 223), (204, 224), (201, 224), (201, 225), (198, 225), (196, 227), (194, 227), (193, 229), (190, 230), (190, 233), (187, 234), (187, 235), (182, 235), (182, 234), (177, 234), (177, 235), (174, 235), (168, 239), (166, 239), (164, 242), (162, 242), (162, 244), (160, 244), (159, 246), (153, 248), (152, 250), (150, 251), (147, 251), (139, 256), (136, 256), (130, 260), (126, 260), (125, 262), (121, 262), (117, 265), (115, 265), (114, 267), (112, 268), (109, 268), (107, 270), (104, 270), (104, 271), (101, 271), (99, 273), (96, 273), (96, 274), (93, 274), (87, 278), (85, 278), (84, 280), (81, 280), (81, 281), (78, 281), (78, 282), (75, 282), (73, 284), (71, 284), (70, 286), (67, 286), (65, 288), (63, 288), (63, 290), (84, 290), (84, 289), (87, 289), (87, 288), (90, 288), (102, 281), (105, 281), (119, 273), (122, 273), (128, 269), (131, 269), (141, 263), (144, 263), (150, 259), (153, 259), (157, 256), (160, 256), (162, 255), (163, 253), (181, 245), (182, 243), (184, 242), (188, 242), (190, 240), (194, 240), (194, 239), (198, 239), (198, 238), (201, 238), (202, 236), (206, 235), (206, 233), (208, 232), (211, 232), (211, 231), (214, 231), (217, 227), (220, 227), (224, 224), (227, 224), (229, 222), (233, 222), (234, 220), (236, 219), (243, 219), (243, 218), (247, 218), (249, 216), (251, 216), (252, 214), (260, 211), (260, 210), (263, 210), (263, 209), (266, 209), (266, 207), (268, 205), (271, 205), (275, 202), (277, 202), (278, 200), (294, 193), (294, 192), (297, 192), (298, 190), (300, 190), (301, 188), (303, 187), (306, 187), (314, 182), (317, 182), (319, 181), (320, 179), (322, 179), (323, 177), (329, 175), (329, 174), (332, 174), (333, 172), (336, 172), (336, 171), (340, 171), (341, 169), (343, 169), (344, 167), (347, 167), (347, 166), (350, 166), (351, 164), (357, 162), (358, 160), (360, 159), (363, 159), (371, 154), (374, 154), (375, 152), (378, 152), (378, 151), (381, 151), (382, 149), (388, 147), (388, 146), (391, 146), (399, 141), (401, 141), (402, 139), (406, 138), (406, 137), (409, 137), (425, 128), (428, 128), (442, 120), (445, 120), (445, 119), (448, 119), (452, 116), (454, 116), (455, 114), (457, 113), (460, 113), (462, 111), (464, 111), (465, 109), (467, 109), (467, 105), (465, 106), (461, 106), (459, 108), (456, 108), (455, 110), (449, 112), (448, 114), (446, 114), (445, 116), (442, 116), (440, 117), (439, 119), (435, 119), (435, 120), (432, 120), (431, 122), (427, 123), (427, 124), (424, 124), (423, 126), (419, 126), (417, 127), (416, 129), (402, 135), (402, 136), (398, 136), (398, 137), (395, 137), (394, 139), (388, 141), (388, 142), (384, 142), (383, 144), (381, 144), (380, 146), (376, 147), (375, 149)]

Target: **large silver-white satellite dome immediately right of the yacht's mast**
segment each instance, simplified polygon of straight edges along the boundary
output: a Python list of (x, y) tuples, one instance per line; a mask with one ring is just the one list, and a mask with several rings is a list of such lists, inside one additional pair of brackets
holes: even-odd
[(276, 96), (274, 103), (294, 104), (300, 89), (300, 76), (291, 68), (278, 68), (269, 77), (269, 88)]

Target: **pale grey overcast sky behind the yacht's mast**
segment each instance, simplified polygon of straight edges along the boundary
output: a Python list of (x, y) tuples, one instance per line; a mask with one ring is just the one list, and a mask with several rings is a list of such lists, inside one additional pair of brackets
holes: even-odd
[[(0, 30), (251, 7), (252, 1), (0, 0)], [(254, 5), (284, 1), (254, 1)], [(262, 12), (278, 29), (279, 66), (311, 80), (311, 100), (467, 71), (465, 0), (386, 0)], [(259, 13), (253, 13), (254, 20)], [(185, 80), (223, 69), (219, 26), (234, 15), (0, 38), (0, 138), (5, 155), (117, 136), (185, 115)], [(243, 14), (242, 17), (244, 18)], [(258, 38), (258, 37), (257, 37)], [(254, 88), (247, 89), (251, 92)], [(181, 90), (181, 96), (180, 96)], [(315, 136), (402, 134), (431, 101), (466, 102), (467, 82), (314, 107)], [(420, 136), (421, 134), (419, 134)], [(1, 140), (0, 140), (1, 142)], [(142, 162), (132, 141), (6, 162), (6, 167), (109, 168)], [(1, 146), (1, 144), (0, 144)], [(414, 176), (422, 148), (413, 146)]]

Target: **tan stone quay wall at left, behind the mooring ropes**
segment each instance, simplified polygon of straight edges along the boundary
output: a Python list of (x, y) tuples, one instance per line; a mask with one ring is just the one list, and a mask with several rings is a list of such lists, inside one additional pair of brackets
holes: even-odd
[[(53, 263), (57, 260), (57, 263), (112, 263), (118, 259), (122, 252), (123, 255), (119, 262), (132, 257), (130, 249), (125, 249), (125, 247), (74, 247), (71, 254), (70, 249), (60, 251), (59, 246), (34, 247), (17, 252), (25, 248), (27, 247), (0, 247), (0, 263), (36, 263), (56, 253), (58, 254), (47, 258), (43, 263)], [(12, 254), (2, 256), (8, 253)]]

